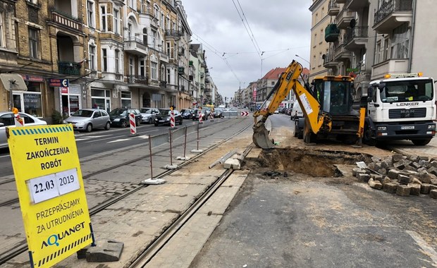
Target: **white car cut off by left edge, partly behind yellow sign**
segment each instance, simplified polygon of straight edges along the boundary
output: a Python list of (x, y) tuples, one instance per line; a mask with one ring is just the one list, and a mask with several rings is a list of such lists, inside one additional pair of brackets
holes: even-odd
[[(24, 126), (44, 126), (47, 122), (26, 113), (18, 113), (24, 120)], [(0, 111), (0, 148), (8, 147), (6, 127), (15, 128), (15, 115), (11, 111)]]

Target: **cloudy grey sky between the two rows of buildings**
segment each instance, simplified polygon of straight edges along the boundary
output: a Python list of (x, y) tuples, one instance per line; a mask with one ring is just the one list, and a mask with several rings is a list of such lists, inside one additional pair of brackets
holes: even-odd
[[(182, 3), (192, 30), (192, 43), (203, 44), (211, 77), (223, 97), (233, 97), (238, 87), (247, 87), (272, 68), (288, 66), (293, 59), (309, 67), (295, 54), (309, 61), (311, 1), (183, 0)], [(248, 25), (243, 24), (243, 15)], [(264, 54), (260, 56), (258, 50)]]

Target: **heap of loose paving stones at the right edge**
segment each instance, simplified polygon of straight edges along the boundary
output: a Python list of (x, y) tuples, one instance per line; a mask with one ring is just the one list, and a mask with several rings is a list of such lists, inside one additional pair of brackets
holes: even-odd
[(429, 195), (437, 199), (437, 159), (393, 154), (381, 159), (372, 157), (367, 168), (352, 174), (371, 188), (401, 196)]

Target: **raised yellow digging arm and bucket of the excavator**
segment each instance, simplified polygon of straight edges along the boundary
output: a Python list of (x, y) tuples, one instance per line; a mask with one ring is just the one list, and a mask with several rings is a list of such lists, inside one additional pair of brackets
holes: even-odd
[[(269, 131), (266, 129), (265, 123), (267, 118), (278, 109), (283, 99), (288, 96), (290, 90), (294, 90), (296, 100), (302, 107), (306, 126), (309, 127), (307, 131), (316, 134), (321, 128), (331, 128), (331, 121), (326, 120), (328, 118), (326, 114), (320, 113), (320, 104), (317, 102), (317, 99), (297, 80), (301, 73), (302, 65), (300, 63), (297, 61), (290, 63), (266, 98), (267, 101), (274, 94), (269, 106), (266, 109), (254, 112), (254, 134), (252, 140), (258, 147), (262, 149), (275, 147), (273, 140), (269, 139)], [(261, 116), (261, 119), (257, 121), (259, 116)]]

